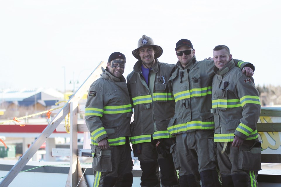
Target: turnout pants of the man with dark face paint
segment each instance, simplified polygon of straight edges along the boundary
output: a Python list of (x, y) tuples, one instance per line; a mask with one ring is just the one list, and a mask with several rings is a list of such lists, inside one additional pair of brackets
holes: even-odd
[(110, 146), (106, 150), (93, 145), (91, 148), (95, 153), (92, 163), (95, 176), (93, 187), (132, 186), (133, 161), (128, 139), (125, 145)]

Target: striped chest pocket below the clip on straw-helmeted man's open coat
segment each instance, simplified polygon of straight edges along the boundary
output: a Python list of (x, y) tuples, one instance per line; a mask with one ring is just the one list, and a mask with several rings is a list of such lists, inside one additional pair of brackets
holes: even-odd
[(163, 103), (171, 100), (171, 93), (167, 93), (167, 84), (155, 84), (154, 88), (155, 93), (153, 93), (153, 101)]

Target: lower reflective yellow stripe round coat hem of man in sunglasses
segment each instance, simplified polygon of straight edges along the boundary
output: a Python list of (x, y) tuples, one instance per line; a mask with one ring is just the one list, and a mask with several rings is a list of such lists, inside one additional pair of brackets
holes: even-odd
[(191, 121), (183, 124), (173, 125), (168, 127), (170, 134), (178, 134), (182, 131), (188, 130), (210, 130), (215, 129), (215, 122), (202, 122), (202, 121)]

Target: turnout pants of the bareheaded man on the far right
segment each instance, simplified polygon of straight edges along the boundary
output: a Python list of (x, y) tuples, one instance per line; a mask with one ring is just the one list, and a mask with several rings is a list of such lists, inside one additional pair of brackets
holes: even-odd
[[(227, 142), (226, 142), (227, 143)], [(258, 140), (247, 140), (238, 147), (232, 142), (216, 142), (217, 160), (222, 176), (222, 186), (258, 186), (258, 170), (261, 170), (261, 146)]]

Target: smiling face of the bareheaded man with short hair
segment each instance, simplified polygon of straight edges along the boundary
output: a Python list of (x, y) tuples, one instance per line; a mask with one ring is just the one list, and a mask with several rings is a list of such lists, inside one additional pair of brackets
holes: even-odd
[(217, 68), (222, 69), (232, 59), (232, 55), (228, 54), (226, 49), (213, 52), (213, 60)]

